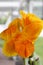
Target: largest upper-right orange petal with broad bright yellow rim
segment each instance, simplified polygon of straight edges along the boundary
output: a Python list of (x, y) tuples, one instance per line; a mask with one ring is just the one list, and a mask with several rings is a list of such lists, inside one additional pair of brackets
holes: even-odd
[(34, 41), (42, 30), (42, 20), (34, 14), (26, 14), (20, 11), (22, 22), (24, 22), (24, 32), (27, 33), (29, 40)]

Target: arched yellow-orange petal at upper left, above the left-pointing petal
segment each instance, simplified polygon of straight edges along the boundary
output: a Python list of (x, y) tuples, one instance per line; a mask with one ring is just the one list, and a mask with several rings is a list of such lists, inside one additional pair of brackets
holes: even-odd
[(18, 32), (20, 32), (21, 31), (20, 28), (23, 29), (23, 26), (24, 26), (22, 19), (20, 19), (20, 18), (13, 19), (12, 22), (9, 24), (9, 27), (12, 26), (12, 25), (16, 26)]

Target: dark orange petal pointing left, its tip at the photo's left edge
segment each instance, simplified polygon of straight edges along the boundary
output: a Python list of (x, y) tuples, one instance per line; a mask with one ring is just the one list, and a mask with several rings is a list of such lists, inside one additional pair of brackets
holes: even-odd
[(6, 30), (4, 30), (1, 34), (0, 34), (0, 38), (4, 39), (4, 40), (8, 40), (10, 39), (12, 36), (15, 35), (16, 32), (16, 27), (15, 26), (11, 26), (9, 28), (7, 28)]

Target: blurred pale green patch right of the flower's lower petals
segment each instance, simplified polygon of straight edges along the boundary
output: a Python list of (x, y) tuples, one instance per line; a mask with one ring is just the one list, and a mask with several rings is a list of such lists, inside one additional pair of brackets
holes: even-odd
[(35, 52), (39, 55), (41, 65), (43, 65), (43, 38), (40, 37), (35, 42)]

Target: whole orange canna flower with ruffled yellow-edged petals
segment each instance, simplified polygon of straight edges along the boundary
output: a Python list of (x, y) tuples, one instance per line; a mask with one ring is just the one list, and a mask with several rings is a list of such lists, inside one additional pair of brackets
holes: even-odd
[[(0, 37), (4, 40), (8, 37), (3, 48), (5, 55), (13, 56), (14, 53), (17, 53), (21, 57), (26, 58), (34, 52), (33, 43), (42, 30), (42, 23), (41, 20), (33, 14), (26, 14), (23, 11), (20, 11), (20, 14), (22, 18), (16, 18), (9, 24), (8, 30), (10, 33), (8, 33), (6, 29), (8, 34), (6, 35), (6, 32), (2, 32)], [(5, 38), (3, 35), (5, 35)]]

